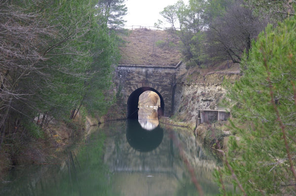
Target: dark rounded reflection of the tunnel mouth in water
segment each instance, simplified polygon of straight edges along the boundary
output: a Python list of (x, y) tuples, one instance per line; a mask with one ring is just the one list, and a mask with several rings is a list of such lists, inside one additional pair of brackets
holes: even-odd
[(149, 152), (159, 146), (163, 139), (163, 129), (159, 126), (148, 131), (138, 120), (130, 119), (126, 126), (126, 139), (130, 146), (140, 152)]

